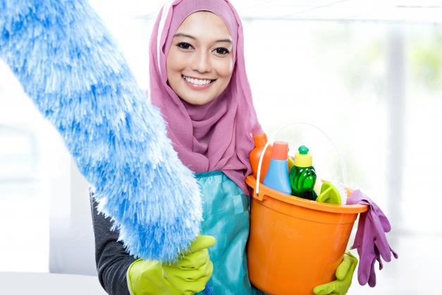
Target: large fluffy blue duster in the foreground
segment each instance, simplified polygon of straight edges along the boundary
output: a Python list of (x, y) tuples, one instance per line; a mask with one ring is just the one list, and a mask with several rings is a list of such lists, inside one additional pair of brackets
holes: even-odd
[(0, 0), (0, 58), (63, 136), (128, 253), (175, 260), (199, 232), (199, 188), (87, 2)]

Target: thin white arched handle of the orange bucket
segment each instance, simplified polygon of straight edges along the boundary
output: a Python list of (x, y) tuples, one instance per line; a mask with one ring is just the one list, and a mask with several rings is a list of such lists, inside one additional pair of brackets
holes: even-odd
[(258, 200), (262, 200), (264, 198), (264, 195), (259, 195), (259, 180), (260, 180), (259, 176), (261, 176), (261, 166), (262, 166), (262, 160), (264, 159), (264, 153), (266, 152), (267, 148), (269, 147), (269, 144), (274, 141), (273, 139), (276, 136), (276, 134), (281, 132), (281, 130), (286, 129), (288, 126), (293, 126), (293, 125), (312, 126), (313, 128), (316, 128), (319, 132), (321, 132), (329, 140), (331, 145), (333, 145), (333, 148), (336, 151), (336, 154), (338, 155), (338, 160), (339, 160), (339, 165), (340, 165), (340, 173), (342, 174), (343, 181), (344, 181), (344, 183), (347, 183), (347, 171), (345, 169), (345, 164), (344, 164), (343, 158), (340, 156), (340, 152), (339, 152), (338, 148), (336, 147), (335, 143), (333, 142), (333, 140), (331, 140), (331, 138), (329, 136), (327, 136), (327, 134), (324, 131), (322, 131), (322, 129), (319, 128), (318, 126), (315, 126), (313, 124), (306, 123), (306, 122), (292, 122), (292, 123), (288, 123), (288, 124), (285, 124), (285, 125), (279, 127), (278, 129), (276, 129), (276, 131), (271, 133), (271, 135), (269, 136), (269, 140), (267, 140), (266, 145), (264, 145), (264, 149), (262, 150), (261, 155), (259, 156), (258, 171), (257, 171), (257, 185), (254, 190)]

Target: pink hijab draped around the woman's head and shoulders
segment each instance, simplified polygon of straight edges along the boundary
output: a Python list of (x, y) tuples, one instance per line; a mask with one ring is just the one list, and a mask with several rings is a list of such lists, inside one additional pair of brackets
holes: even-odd
[[(231, 82), (215, 100), (192, 105), (180, 100), (167, 84), (166, 56), (183, 20), (196, 11), (219, 16), (233, 41), (235, 66)], [(262, 132), (245, 73), (243, 26), (227, 0), (176, 0), (159, 13), (150, 41), (150, 97), (161, 109), (168, 136), (181, 161), (195, 173), (221, 170), (248, 194), (252, 135)]]

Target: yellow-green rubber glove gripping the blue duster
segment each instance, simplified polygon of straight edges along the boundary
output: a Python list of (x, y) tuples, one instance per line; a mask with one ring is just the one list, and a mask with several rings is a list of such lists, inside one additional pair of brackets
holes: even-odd
[(204, 290), (214, 270), (207, 248), (214, 243), (213, 236), (197, 236), (173, 264), (135, 260), (126, 276), (130, 294), (192, 295)]

